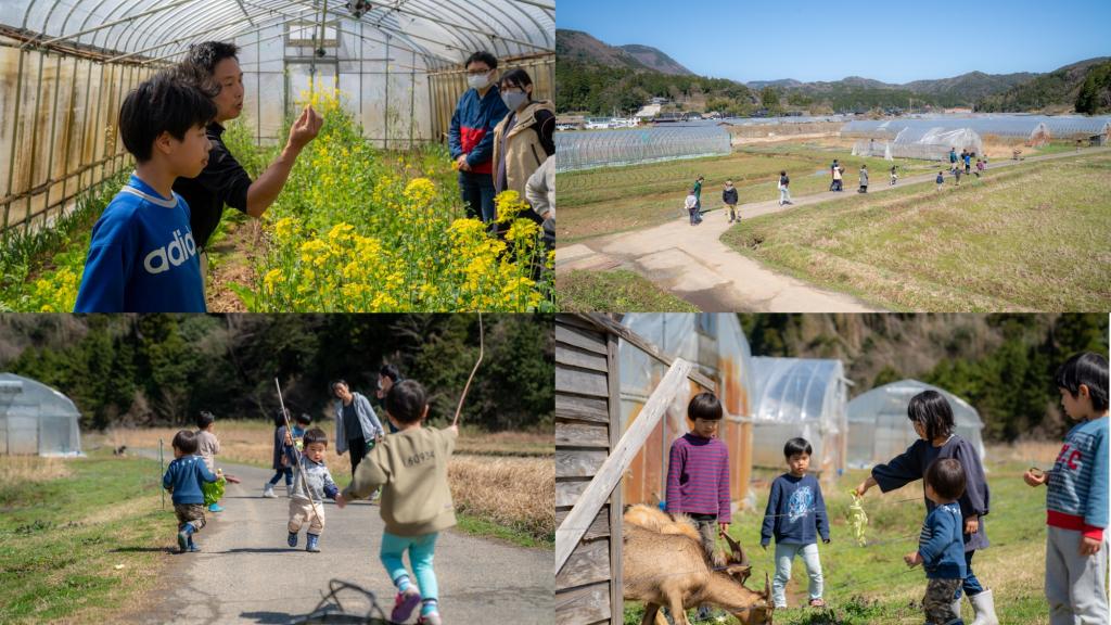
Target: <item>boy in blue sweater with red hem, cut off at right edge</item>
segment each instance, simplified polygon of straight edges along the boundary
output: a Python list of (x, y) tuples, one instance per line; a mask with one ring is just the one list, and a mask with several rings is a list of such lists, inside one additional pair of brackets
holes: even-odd
[(1030, 469), (1045, 493), (1045, 598), (1050, 625), (1107, 623), (1108, 360), (1077, 354), (1057, 371), (1061, 406), (1081, 419), (1048, 474)]

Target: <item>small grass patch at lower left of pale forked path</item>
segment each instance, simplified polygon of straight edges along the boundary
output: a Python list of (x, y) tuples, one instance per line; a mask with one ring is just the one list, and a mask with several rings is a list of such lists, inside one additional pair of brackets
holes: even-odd
[(624, 269), (557, 275), (556, 292), (564, 312), (699, 311), (697, 306)]

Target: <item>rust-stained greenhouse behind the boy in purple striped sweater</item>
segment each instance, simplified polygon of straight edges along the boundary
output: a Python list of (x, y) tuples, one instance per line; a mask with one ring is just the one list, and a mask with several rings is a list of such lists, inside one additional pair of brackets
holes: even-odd
[[(712, 381), (725, 411), (718, 437), (729, 447), (732, 499), (743, 507), (752, 475), (752, 355), (735, 315), (653, 314), (625, 315), (621, 324), (670, 358), (693, 363)], [(667, 366), (629, 341), (621, 341), (621, 425), (628, 429), (644, 407)], [(665, 418), (644, 443), (623, 480), (627, 504), (651, 504), (667, 496), (668, 455), (671, 444), (690, 430), (687, 404), (697, 386), (680, 391)]]

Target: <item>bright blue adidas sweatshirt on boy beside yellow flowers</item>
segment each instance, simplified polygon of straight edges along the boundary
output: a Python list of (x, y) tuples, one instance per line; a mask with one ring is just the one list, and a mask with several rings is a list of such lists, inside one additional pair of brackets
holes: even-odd
[(131, 175), (92, 227), (74, 312), (204, 312), (189, 205)]

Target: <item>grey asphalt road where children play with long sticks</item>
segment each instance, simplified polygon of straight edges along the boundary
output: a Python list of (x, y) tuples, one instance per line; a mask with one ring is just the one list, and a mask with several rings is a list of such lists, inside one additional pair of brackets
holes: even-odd
[[(173, 562), (161, 581), (124, 622), (289, 623), (310, 613), (333, 578), (374, 593), (389, 616), (394, 591), (378, 559), (383, 525), (377, 504), (356, 502), (340, 510), (326, 502), (321, 550), (310, 554), (303, 529), (297, 549), (286, 545), (284, 486), (278, 486), (277, 499), (261, 496), (272, 472), (220, 466), (242, 484), (228, 485), (224, 512), (207, 515), (208, 525), (197, 534), (201, 553), (168, 556)], [(167, 525), (167, 544), (176, 544), (172, 523)], [(552, 623), (551, 567), (552, 555), (546, 549), (441, 533), (436, 574), (444, 622)], [(416, 619), (414, 614), (409, 622)]]

